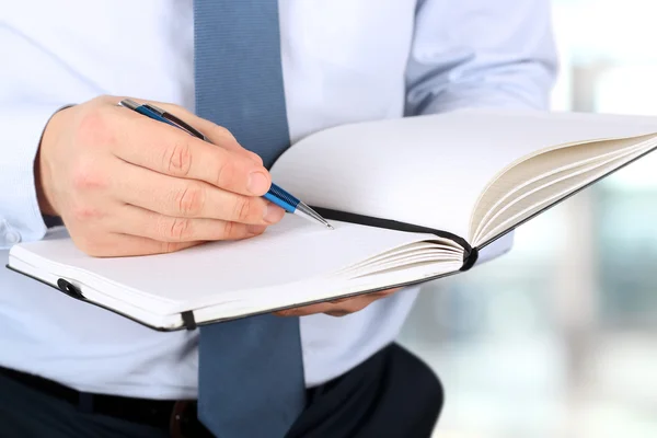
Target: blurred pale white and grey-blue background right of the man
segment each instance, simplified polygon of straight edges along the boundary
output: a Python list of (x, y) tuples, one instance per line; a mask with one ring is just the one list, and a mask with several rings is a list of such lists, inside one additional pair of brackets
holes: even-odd
[[(553, 0), (560, 111), (657, 115), (657, 1)], [(657, 437), (657, 154), (426, 286), (401, 342), (439, 373), (445, 438)]]

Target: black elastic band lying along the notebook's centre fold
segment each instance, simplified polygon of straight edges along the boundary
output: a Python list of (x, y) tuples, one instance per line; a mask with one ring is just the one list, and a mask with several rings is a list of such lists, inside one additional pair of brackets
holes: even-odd
[(372, 216), (357, 215), (354, 212), (332, 210), (330, 208), (322, 207), (311, 207), (313, 210), (319, 212), (325, 219), (337, 220), (341, 222), (349, 222), (357, 223), (360, 226), (376, 227), (376, 228), (384, 228), (388, 230), (395, 231), (406, 231), (406, 232), (415, 232), (415, 233), (427, 233), (427, 234), (436, 234), (440, 238), (451, 240), (459, 245), (461, 245), (464, 250), (463, 252), (463, 266), (461, 266), (460, 270), (468, 270), (476, 263), (479, 258), (479, 251), (476, 249), (470, 246), (470, 243), (460, 235), (450, 233), (448, 231), (436, 230), (434, 228), (415, 226), (413, 223), (399, 222), (396, 220), (390, 219), (381, 219), (374, 218)]

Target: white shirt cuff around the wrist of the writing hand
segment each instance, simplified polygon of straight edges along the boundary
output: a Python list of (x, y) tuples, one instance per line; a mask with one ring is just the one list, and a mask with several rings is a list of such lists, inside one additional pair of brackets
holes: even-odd
[(48, 120), (65, 104), (0, 106), (0, 249), (42, 239), (34, 160)]

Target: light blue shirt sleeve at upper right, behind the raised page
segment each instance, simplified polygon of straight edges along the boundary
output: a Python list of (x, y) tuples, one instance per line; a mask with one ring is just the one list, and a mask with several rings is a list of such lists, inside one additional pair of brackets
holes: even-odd
[(418, 0), (406, 115), (545, 108), (556, 74), (550, 0)]

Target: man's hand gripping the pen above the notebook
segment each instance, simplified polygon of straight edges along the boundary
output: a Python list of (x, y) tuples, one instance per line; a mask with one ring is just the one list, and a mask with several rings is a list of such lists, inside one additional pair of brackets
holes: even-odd
[(35, 162), (43, 214), (94, 256), (147, 255), (261, 234), (285, 210), (260, 158), (182, 107), (158, 104), (214, 143), (102, 96), (57, 112)]

